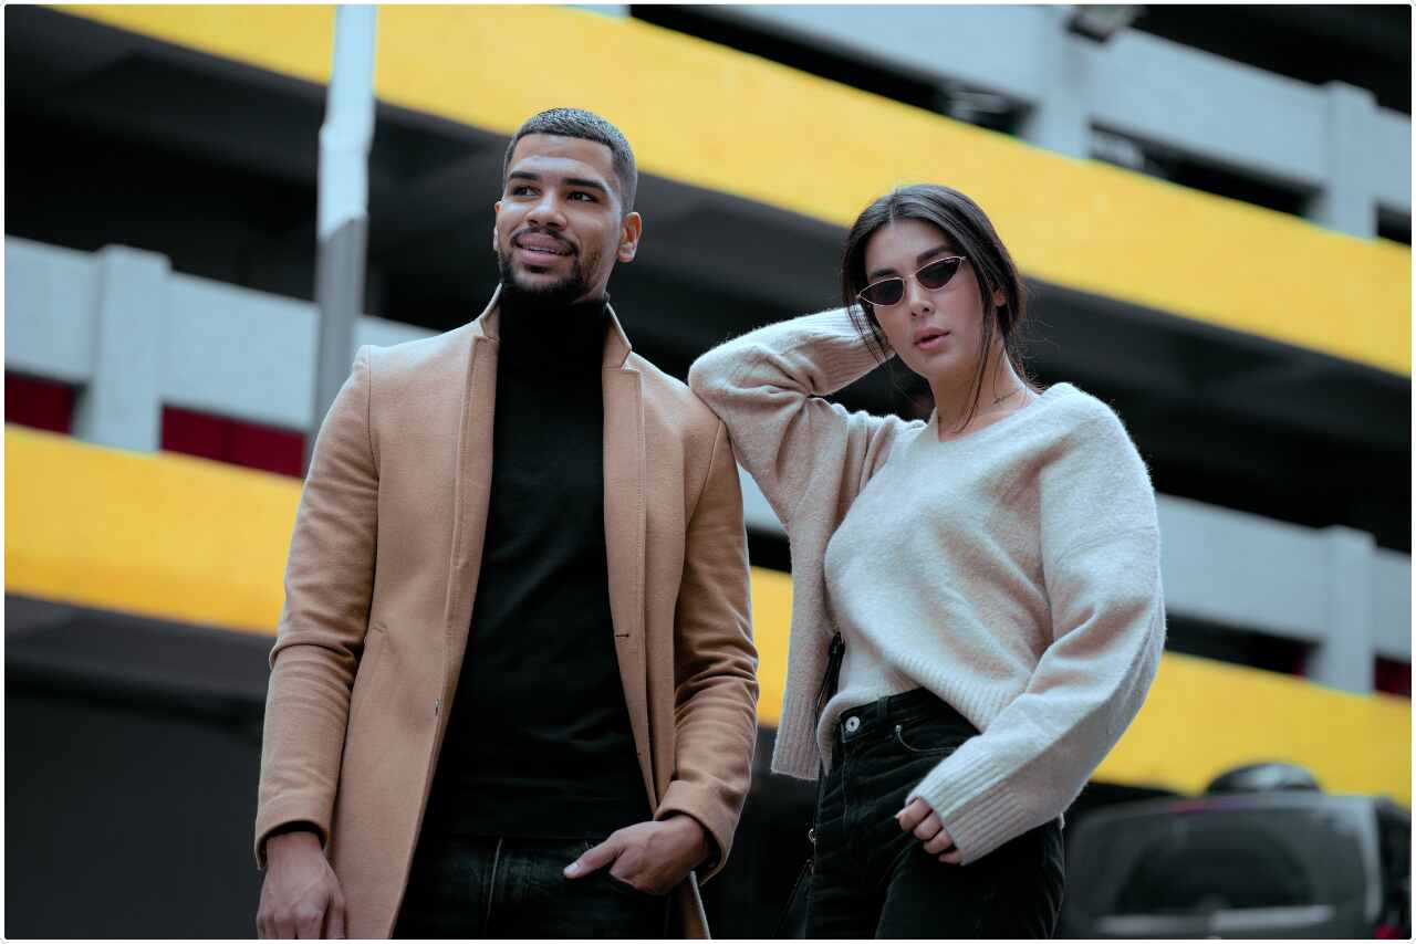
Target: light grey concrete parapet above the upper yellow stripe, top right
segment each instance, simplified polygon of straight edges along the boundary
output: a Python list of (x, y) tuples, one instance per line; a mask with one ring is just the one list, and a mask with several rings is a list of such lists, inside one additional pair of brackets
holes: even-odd
[[(942, 86), (1029, 109), (1032, 143), (1086, 157), (1093, 129), (1163, 144), (1311, 195), (1310, 218), (1355, 236), (1378, 205), (1410, 217), (1410, 119), (1341, 84), (1315, 86), (1124, 30), (1106, 44), (1046, 6), (712, 6), (716, 16)], [(1365, 156), (1365, 157), (1364, 157)]]

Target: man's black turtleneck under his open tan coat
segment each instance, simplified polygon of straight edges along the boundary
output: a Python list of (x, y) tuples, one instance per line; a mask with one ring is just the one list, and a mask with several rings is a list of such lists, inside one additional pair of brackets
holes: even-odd
[(598, 839), (650, 818), (605, 558), (605, 299), (498, 307), (487, 536), (423, 835)]

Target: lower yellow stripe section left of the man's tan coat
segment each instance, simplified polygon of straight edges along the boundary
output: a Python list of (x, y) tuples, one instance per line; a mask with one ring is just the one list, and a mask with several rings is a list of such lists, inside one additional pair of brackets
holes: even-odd
[(7, 592), (273, 633), (300, 485), (6, 426)]

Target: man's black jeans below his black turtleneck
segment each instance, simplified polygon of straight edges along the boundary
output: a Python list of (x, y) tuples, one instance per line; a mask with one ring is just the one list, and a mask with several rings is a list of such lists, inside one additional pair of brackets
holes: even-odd
[(418, 845), (394, 937), (664, 937), (668, 899), (603, 868), (562, 869), (585, 839), (446, 836)]

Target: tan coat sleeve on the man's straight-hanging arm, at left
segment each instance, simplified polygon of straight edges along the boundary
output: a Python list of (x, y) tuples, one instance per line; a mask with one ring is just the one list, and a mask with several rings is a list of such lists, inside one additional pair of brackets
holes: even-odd
[(368, 631), (378, 524), (370, 348), (320, 426), (295, 518), (285, 607), (270, 650), (256, 805), (256, 865), (272, 831), (304, 821), (327, 842), (350, 689)]

